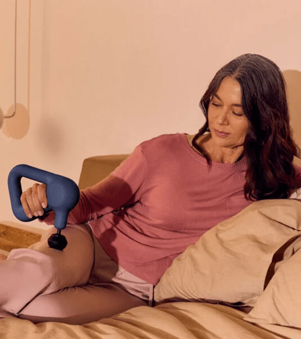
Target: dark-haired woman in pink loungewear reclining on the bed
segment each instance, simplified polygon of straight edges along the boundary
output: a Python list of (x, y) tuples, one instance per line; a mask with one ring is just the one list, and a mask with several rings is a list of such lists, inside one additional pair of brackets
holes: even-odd
[[(149, 305), (172, 260), (252, 201), (288, 198), (301, 186), (280, 69), (245, 54), (223, 66), (200, 101), (196, 135), (162, 135), (138, 145), (106, 179), (81, 191), (63, 234), (0, 263), (0, 310), (39, 321), (86, 323)], [(298, 175), (297, 175), (298, 172)], [(46, 186), (21, 196), (25, 213), (47, 224)], [(12, 283), (13, 282), (13, 283)], [(71, 287), (73, 286), (73, 287)], [(6, 313), (5, 313), (6, 312)]]

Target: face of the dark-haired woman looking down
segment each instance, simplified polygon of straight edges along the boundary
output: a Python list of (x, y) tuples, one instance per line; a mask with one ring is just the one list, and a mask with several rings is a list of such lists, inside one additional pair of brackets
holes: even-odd
[(238, 81), (225, 77), (208, 106), (208, 123), (212, 140), (220, 147), (242, 146), (248, 130), (248, 119), (241, 107)]

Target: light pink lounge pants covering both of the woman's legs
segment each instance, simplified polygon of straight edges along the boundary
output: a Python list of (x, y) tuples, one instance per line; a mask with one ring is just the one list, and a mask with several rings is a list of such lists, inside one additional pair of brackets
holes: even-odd
[(115, 263), (88, 224), (66, 226), (63, 251), (49, 248), (52, 233), (0, 262), (0, 317), (84, 324), (151, 305), (153, 286)]

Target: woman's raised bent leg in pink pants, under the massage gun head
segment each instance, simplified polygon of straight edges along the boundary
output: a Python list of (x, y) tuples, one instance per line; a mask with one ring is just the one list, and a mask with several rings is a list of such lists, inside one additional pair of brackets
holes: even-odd
[(53, 227), (38, 243), (12, 250), (0, 261), (0, 313), (17, 315), (30, 301), (64, 287), (85, 284), (93, 266), (94, 248), (86, 224), (67, 225), (63, 251), (49, 248)]

